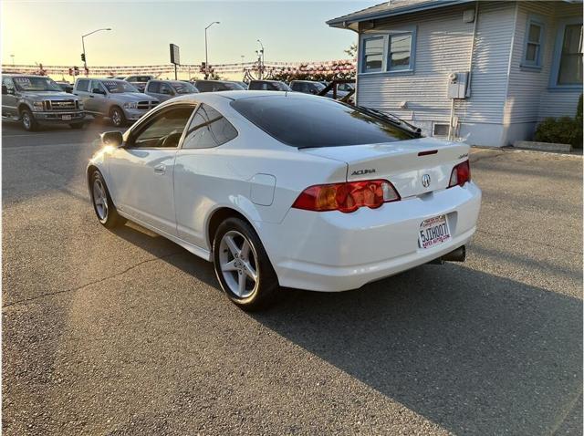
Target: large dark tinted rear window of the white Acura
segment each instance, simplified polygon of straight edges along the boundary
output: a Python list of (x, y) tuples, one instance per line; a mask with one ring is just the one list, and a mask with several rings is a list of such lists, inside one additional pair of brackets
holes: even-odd
[(298, 149), (414, 138), (391, 122), (332, 99), (287, 94), (237, 99), (231, 106), (276, 140)]

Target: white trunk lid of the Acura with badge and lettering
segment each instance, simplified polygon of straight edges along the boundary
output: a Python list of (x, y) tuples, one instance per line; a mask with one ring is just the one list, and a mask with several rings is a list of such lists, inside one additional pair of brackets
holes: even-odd
[[(407, 198), (447, 188), (454, 165), (468, 159), (469, 149), (464, 143), (420, 138), (302, 151), (344, 161), (348, 182), (386, 179), (401, 198)], [(430, 181), (424, 186), (422, 178), (428, 182), (426, 176)]]

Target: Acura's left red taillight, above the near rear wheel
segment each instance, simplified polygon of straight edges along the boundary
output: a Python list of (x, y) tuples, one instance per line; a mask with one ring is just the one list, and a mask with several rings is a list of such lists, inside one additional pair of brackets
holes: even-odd
[(331, 183), (310, 186), (292, 204), (307, 211), (355, 212), (360, 207), (375, 209), (384, 202), (397, 202), (400, 194), (386, 180)]

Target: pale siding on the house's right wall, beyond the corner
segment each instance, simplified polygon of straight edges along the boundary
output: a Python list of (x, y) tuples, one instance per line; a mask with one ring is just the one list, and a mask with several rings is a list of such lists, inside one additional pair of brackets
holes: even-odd
[[(549, 78), (557, 41), (558, 19), (579, 16), (581, 5), (552, 2), (518, 2), (516, 37), (512, 51), (504, 123), (504, 144), (531, 139), (537, 122), (547, 117), (574, 116), (581, 90), (554, 91)], [(536, 16), (544, 23), (541, 69), (522, 67), (527, 21)]]

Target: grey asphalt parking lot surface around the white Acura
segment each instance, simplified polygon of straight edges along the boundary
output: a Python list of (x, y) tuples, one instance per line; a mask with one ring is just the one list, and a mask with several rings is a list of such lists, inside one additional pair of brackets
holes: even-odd
[(98, 223), (102, 130), (3, 125), (6, 435), (582, 434), (581, 157), (474, 150), (464, 264), (246, 314), (210, 264)]

